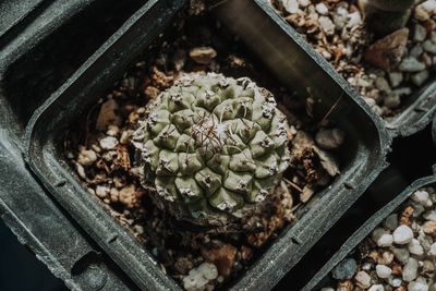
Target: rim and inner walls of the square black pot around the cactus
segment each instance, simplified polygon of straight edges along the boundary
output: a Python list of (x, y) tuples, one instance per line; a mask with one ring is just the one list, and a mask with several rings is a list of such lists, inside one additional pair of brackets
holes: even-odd
[[(62, 151), (63, 133), (97, 102), (140, 52), (145, 51), (187, 1), (153, 0), (142, 7), (32, 117), (25, 157), (32, 170), (66, 211), (144, 290), (180, 289), (149, 253), (89, 195)], [(241, 13), (243, 11), (243, 13)], [(315, 117), (330, 119), (347, 132), (338, 153), (342, 173), (302, 209), (305, 215), (284, 229), (231, 288), (271, 288), (329, 229), (386, 166), (390, 140), (363, 100), (320, 61), (298, 34), (262, 0), (225, 1), (210, 15), (244, 40), (246, 50), (265, 64), (265, 73), (295, 92), (312, 89), (319, 100)], [(165, 38), (165, 35), (164, 37)], [(340, 99), (340, 102), (338, 101)]]

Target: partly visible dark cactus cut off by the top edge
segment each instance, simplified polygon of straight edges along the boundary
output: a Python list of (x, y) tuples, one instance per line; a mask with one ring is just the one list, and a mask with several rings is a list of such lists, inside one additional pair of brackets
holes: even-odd
[(360, 0), (366, 23), (378, 35), (388, 35), (404, 27), (414, 0)]

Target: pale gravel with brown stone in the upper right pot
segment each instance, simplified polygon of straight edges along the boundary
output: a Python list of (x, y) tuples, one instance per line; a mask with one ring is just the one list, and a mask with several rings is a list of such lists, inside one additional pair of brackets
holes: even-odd
[(407, 27), (382, 38), (365, 26), (358, 1), (270, 2), (382, 117), (399, 113), (434, 73), (436, 0), (415, 1)]

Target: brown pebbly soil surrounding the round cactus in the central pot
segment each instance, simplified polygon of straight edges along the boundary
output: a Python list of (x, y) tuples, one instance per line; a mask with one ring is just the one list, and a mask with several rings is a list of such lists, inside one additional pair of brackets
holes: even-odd
[[(238, 278), (301, 209), (339, 173), (335, 151), (343, 132), (311, 117), (311, 96), (294, 96), (265, 74), (218, 23), (186, 12), (131, 65), (106, 96), (71, 126), (64, 153), (90, 195), (136, 237), (161, 269), (187, 290), (222, 288)], [(291, 125), (291, 166), (264, 207), (243, 219), (243, 231), (205, 229), (175, 221), (152, 203), (138, 181), (130, 138), (144, 106), (181, 72), (247, 76), (270, 90)], [(286, 102), (283, 100), (287, 100)], [(308, 101), (306, 101), (308, 100)], [(316, 136), (316, 138), (315, 138)], [(203, 272), (203, 274), (202, 274)]]

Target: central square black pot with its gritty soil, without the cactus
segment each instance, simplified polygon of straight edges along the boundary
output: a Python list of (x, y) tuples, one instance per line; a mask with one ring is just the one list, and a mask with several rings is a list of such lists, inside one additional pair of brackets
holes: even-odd
[[(25, 155), (140, 288), (180, 288), (168, 275), (186, 289), (271, 288), (385, 167), (389, 138), (263, 1), (229, 1), (201, 15), (184, 3), (150, 1), (140, 9), (38, 109), (26, 129)], [(250, 77), (272, 93), (291, 125), (291, 166), (267, 201), (268, 215), (252, 216), (244, 231), (230, 235), (227, 225), (174, 220), (137, 179), (143, 169), (134, 167), (132, 132), (146, 118), (148, 100), (183, 72), (222, 73), (254, 86), (240, 78)]]

